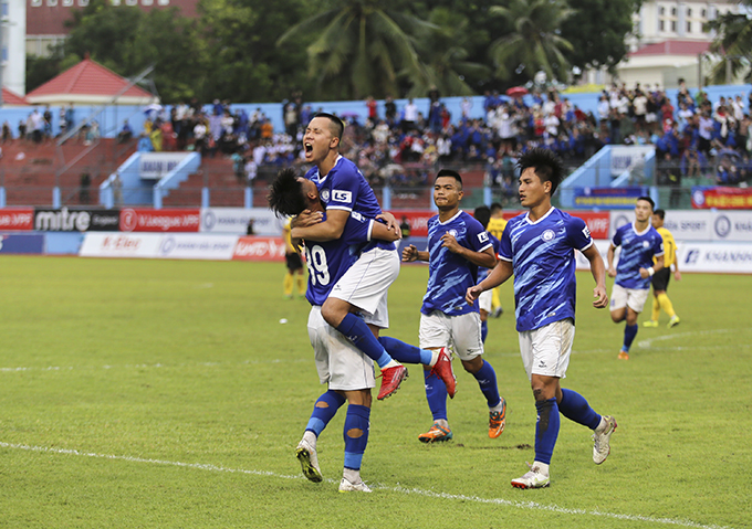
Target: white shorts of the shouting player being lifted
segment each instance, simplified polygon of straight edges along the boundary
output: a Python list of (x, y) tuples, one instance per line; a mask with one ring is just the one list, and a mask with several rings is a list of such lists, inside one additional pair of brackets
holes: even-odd
[(359, 308), (366, 324), (386, 329), (389, 327), (386, 295), (398, 275), (397, 251), (376, 247), (361, 254), (334, 285), (330, 296)]

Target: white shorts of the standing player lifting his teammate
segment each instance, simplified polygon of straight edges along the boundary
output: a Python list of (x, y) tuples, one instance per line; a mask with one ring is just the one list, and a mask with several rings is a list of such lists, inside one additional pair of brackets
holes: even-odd
[(311, 307), (309, 313), (309, 338), (322, 384), (328, 382), (330, 390), (341, 391), (376, 387), (374, 361), (328, 325), (318, 306)]

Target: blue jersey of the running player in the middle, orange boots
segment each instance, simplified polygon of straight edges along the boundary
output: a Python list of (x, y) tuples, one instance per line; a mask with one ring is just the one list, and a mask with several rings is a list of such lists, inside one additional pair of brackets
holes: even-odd
[(473, 252), (491, 247), (489, 234), (472, 215), (460, 211), (447, 222), (435, 215), (428, 220), (428, 288), (422, 314), (439, 310), (448, 316), (478, 313), (478, 304), (468, 305), (467, 289), (478, 281), (478, 265), (441, 246), (441, 236), (451, 233), (457, 242)]

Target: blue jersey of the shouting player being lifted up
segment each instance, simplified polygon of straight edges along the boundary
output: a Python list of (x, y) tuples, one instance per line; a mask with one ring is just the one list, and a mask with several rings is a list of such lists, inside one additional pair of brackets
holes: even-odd
[[(325, 177), (322, 177), (318, 168), (314, 167), (305, 173), (305, 178), (316, 183), (321, 201), (326, 204), (327, 210), (354, 211), (368, 219), (382, 214), (382, 207), (378, 205), (374, 190), (357, 166), (347, 158), (340, 156)], [(397, 250), (394, 243), (373, 241), (363, 251), (376, 246)]]

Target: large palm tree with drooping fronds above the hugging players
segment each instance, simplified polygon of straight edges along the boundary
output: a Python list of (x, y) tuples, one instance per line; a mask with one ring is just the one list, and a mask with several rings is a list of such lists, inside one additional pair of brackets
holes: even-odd
[(414, 40), (425, 21), (391, 10), (400, 0), (333, 0), (322, 11), (290, 28), (278, 45), (317, 32), (307, 47), (309, 77), (324, 98), (399, 95), (401, 77), (425, 82)]

